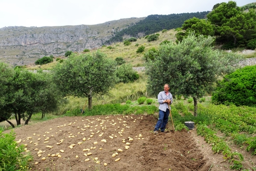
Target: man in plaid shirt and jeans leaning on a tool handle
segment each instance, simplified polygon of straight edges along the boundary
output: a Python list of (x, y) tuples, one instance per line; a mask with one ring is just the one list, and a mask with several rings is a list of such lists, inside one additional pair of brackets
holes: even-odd
[(166, 124), (170, 114), (168, 105), (173, 102), (172, 94), (169, 92), (169, 89), (169, 84), (164, 84), (164, 91), (161, 91), (157, 96), (159, 103), (159, 119), (154, 128), (154, 133), (158, 133), (159, 129), (162, 133), (165, 133)]

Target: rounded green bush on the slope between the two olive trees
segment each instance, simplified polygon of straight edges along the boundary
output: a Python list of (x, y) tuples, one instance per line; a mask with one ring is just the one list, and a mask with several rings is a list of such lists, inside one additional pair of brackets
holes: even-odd
[(140, 75), (132, 69), (131, 64), (122, 64), (116, 69), (116, 77), (118, 82), (128, 83), (137, 80)]

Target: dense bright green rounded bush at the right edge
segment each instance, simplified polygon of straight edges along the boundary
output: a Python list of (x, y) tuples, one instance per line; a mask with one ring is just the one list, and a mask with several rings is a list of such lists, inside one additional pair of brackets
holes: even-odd
[(256, 104), (256, 66), (243, 67), (219, 82), (212, 93), (215, 104), (233, 103), (236, 105), (255, 106)]

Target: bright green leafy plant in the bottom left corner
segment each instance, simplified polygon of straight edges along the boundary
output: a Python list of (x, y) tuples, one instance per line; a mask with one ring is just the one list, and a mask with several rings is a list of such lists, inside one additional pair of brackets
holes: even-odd
[(29, 170), (29, 161), (32, 160), (32, 156), (28, 154), (26, 158), (23, 157), (24, 146), (17, 145), (13, 130), (10, 133), (2, 133), (0, 130), (0, 149), (1, 170), (17, 171), (21, 169), (23, 171), (25, 167)]

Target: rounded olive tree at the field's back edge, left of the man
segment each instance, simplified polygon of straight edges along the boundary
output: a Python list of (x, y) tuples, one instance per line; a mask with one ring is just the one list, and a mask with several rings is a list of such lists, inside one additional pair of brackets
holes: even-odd
[(87, 54), (72, 54), (54, 68), (54, 80), (65, 96), (88, 98), (107, 93), (116, 82), (116, 64), (100, 51)]

